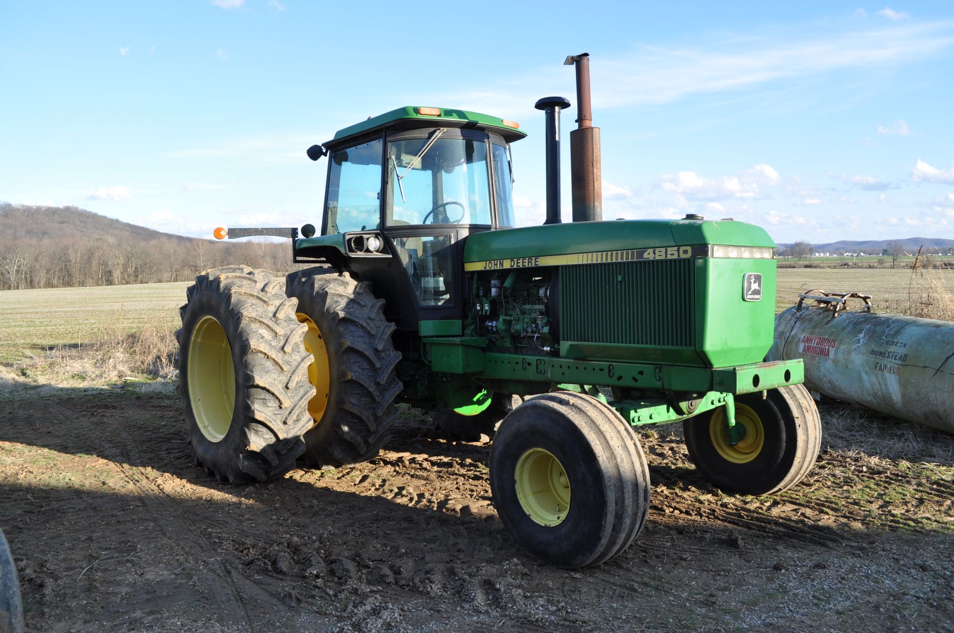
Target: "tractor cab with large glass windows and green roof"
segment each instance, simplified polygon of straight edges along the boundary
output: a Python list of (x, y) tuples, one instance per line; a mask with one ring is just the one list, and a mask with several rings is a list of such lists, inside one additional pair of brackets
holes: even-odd
[(514, 226), (508, 144), (524, 136), (512, 121), (441, 108), (345, 128), (309, 153), (328, 155), (328, 179), (321, 236), (299, 239), (297, 260), (371, 281), (401, 329), (460, 318), (464, 240)]

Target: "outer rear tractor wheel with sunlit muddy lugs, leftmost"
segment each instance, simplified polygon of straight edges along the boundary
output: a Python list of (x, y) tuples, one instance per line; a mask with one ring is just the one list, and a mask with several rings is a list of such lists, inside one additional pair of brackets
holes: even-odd
[(284, 279), (246, 266), (196, 277), (179, 309), (186, 436), (219, 480), (270, 480), (295, 464), (311, 426), (311, 355)]

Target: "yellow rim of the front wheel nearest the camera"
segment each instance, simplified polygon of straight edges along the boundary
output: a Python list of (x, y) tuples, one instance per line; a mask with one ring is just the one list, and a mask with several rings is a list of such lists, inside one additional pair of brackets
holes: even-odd
[(550, 451), (531, 448), (517, 459), (513, 475), (517, 499), (530, 519), (552, 527), (570, 511), (570, 480)]

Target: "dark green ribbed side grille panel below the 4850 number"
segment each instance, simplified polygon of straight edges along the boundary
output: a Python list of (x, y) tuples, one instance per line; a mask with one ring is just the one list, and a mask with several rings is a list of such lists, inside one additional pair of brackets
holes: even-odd
[(695, 260), (560, 269), (560, 338), (695, 347)]

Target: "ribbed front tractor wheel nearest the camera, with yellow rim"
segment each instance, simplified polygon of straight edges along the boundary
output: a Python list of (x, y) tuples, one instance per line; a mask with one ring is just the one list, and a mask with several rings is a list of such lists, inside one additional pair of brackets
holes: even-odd
[(566, 568), (609, 561), (642, 530), (649, 468), (612, 407), (572, 392), (529, 398), (490, 451), (497, 514), (529, 554)]

